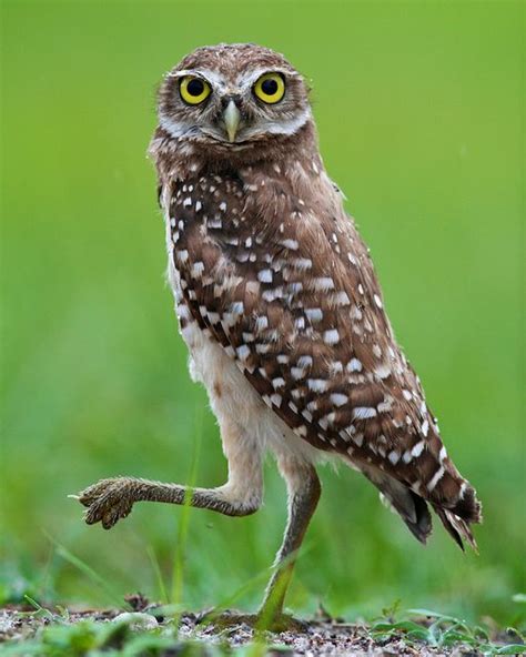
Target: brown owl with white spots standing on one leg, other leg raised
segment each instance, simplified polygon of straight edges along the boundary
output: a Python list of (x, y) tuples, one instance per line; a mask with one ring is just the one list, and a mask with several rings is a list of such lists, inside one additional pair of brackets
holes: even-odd
[(441, 439), (396, 343), (368, 250), (325, 172), (304, 78), (254, 44), (199, 48), (162, 82), (150, 144), (190, 373), (204, 384), (226, 484), (131, 477), (80, 495), (112, 527), (135, 502), (245, 516), (263, 497), (266, 451), (289, 518), (260, 616), (275, 623), (321, 494), (316, 465), (361, 472), (425, 543), (429, 507), (474, 548), (481, 504)]

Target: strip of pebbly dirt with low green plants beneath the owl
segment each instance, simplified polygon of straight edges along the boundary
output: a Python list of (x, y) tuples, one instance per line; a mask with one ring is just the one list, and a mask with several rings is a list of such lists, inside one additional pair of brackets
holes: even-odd
[[(171, 657), (186, 654), (185, 647), (192, 646), (192, 655), (218, 655), (218, 650), (225, 655), (235, 654), (237, 647), (245, 646), (254, 640), (254, 629), (249, 624), (237, 620), (232, 615), (232, 624), (210, 623), (202, 624), (203, 615), (182, 614), (175, 626), (173, 617), (169, 616), (165, 608), (149, 605), (145, 599), (129, 600), (132, 611), (117, 609), (45, 609), (36, 610), (30, 607), (10, 606), (0, 609), (0, 641), (4, 647), (9, 646), (12, 655), (68, 655), (68, 648), (63, 653), (57, 653), (57, 643), (67, 645), (71, 638), (71, 629), (84, 633), (97, 649), (127, 647), (127, 654), (155, 655)], [(229, 613), (226, 613), (226, 617)], [(223, 615), (224, 619), (225, 615)], [(74, 627), (77, 626), (77, 628)], [(418, 625), (415, 624), (415, 627)], [(422, 629), (426, 631), (426, 620), (422, 619)], [(63, 630), (63, 631), (62, 631)], [(77, 636), (79, 635), (79, 631)], [(70, 633), (68, 635), (68, 633)], [(82, 635), (83, 636), (83, 635)], [(88, 646), (88, 638), (83, 639)], [(150, 637), (150, 638), (149, 638)], [(513, 643), (513, 640), (506, 643)], [(138, 640), (141, 639), (141, 646)], [(73, 639), (71, 639), (73, 640)], [(78, 638), (74, 639), (78, 643)], [(386, 631), (384, 636), (374, 631), (374, 628), (362, 624), (348, 624), (336, 619), (316, 619), (302, 624), (294, 630), (263, 633), (260, 636), (261, 651), (264, 654), (291, 654), (291, 655), (421, 655), (421, 656), (476, 656), (483, 655), (474, 646), (462, 645), (454, 647), (433, 647), (418, 639), (412, 639), (411, 635), (394, 629)], [(41, 643), (39, 643), (41, 641)], [(53, 643), (54, 641), (54, 643)], [(138, 651), (132, 644), (136, 643)], [(16, 646), (28, 647), (17, 653)], [(29, 648), (31, 647), (31, 650)], [(39, 651), (39, 647), (41, 651)], [(211, 647), (214, 649), (212, 650)], [(49, 648), (49, 649), (48, 649)], [(71, 653), (73, 654), (73, 653)], [(83, 655), (87, 653), (74, 653)], [(487, 654), (487, 653), (486, 653)], [(510, 654), (510, 653), (508, 653)]]

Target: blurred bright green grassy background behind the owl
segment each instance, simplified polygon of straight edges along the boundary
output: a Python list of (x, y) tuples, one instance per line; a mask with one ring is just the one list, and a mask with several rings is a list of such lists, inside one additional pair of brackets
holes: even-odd
[[(448, 449), (484, 502), (481, 556), (435, 523), (423, 548), (356, 473), (324, 495), (290, 606), (348, 617), (401, 599), (512, 621), (524, 590), (520, 215), (522, 2), (2, 3), (3, 597), (108, 604), (168, 582), (182, 509), (139, 505), (112, 532), (67, 498), (129, 474), (223, 483), (204, 391), (190, 382), (163, 280), (145, 150), (158, 81), (200, 44), (255, 41), (312, 80), (330, 175), (348, 196), (397, 336)], [(201, 436), (201, 437), (200, 437)], [(253, 607), (285, 522), (266, 502), (233, 519), (192, 512), (186, 607), (240, 592)]]

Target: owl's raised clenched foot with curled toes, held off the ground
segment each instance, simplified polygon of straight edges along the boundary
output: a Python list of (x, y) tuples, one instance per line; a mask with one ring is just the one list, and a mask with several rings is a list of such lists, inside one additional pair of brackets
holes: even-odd
[(111, 529), (129, 516), (134, 502), (130, 479), (125, 477), (101, 479), (74, 497), (87, 507), (84, 520), (88, 525), (102, 523), (104, 529)]

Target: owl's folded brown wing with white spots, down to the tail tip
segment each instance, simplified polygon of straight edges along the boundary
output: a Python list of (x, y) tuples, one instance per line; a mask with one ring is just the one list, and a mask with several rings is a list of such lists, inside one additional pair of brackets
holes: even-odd
[(173, 203), (173, 259), (193, 317), (296, 435), (348, 457), (418, 538), (431, 523), (415, 495), (455, 539), (472, 540), (462, 518), (475, 517), (473, 489), (396, 345), (352, 220), (310, 214), (261, 228), (257, 216), (233, 224), (222, 211), (184, 194)]

